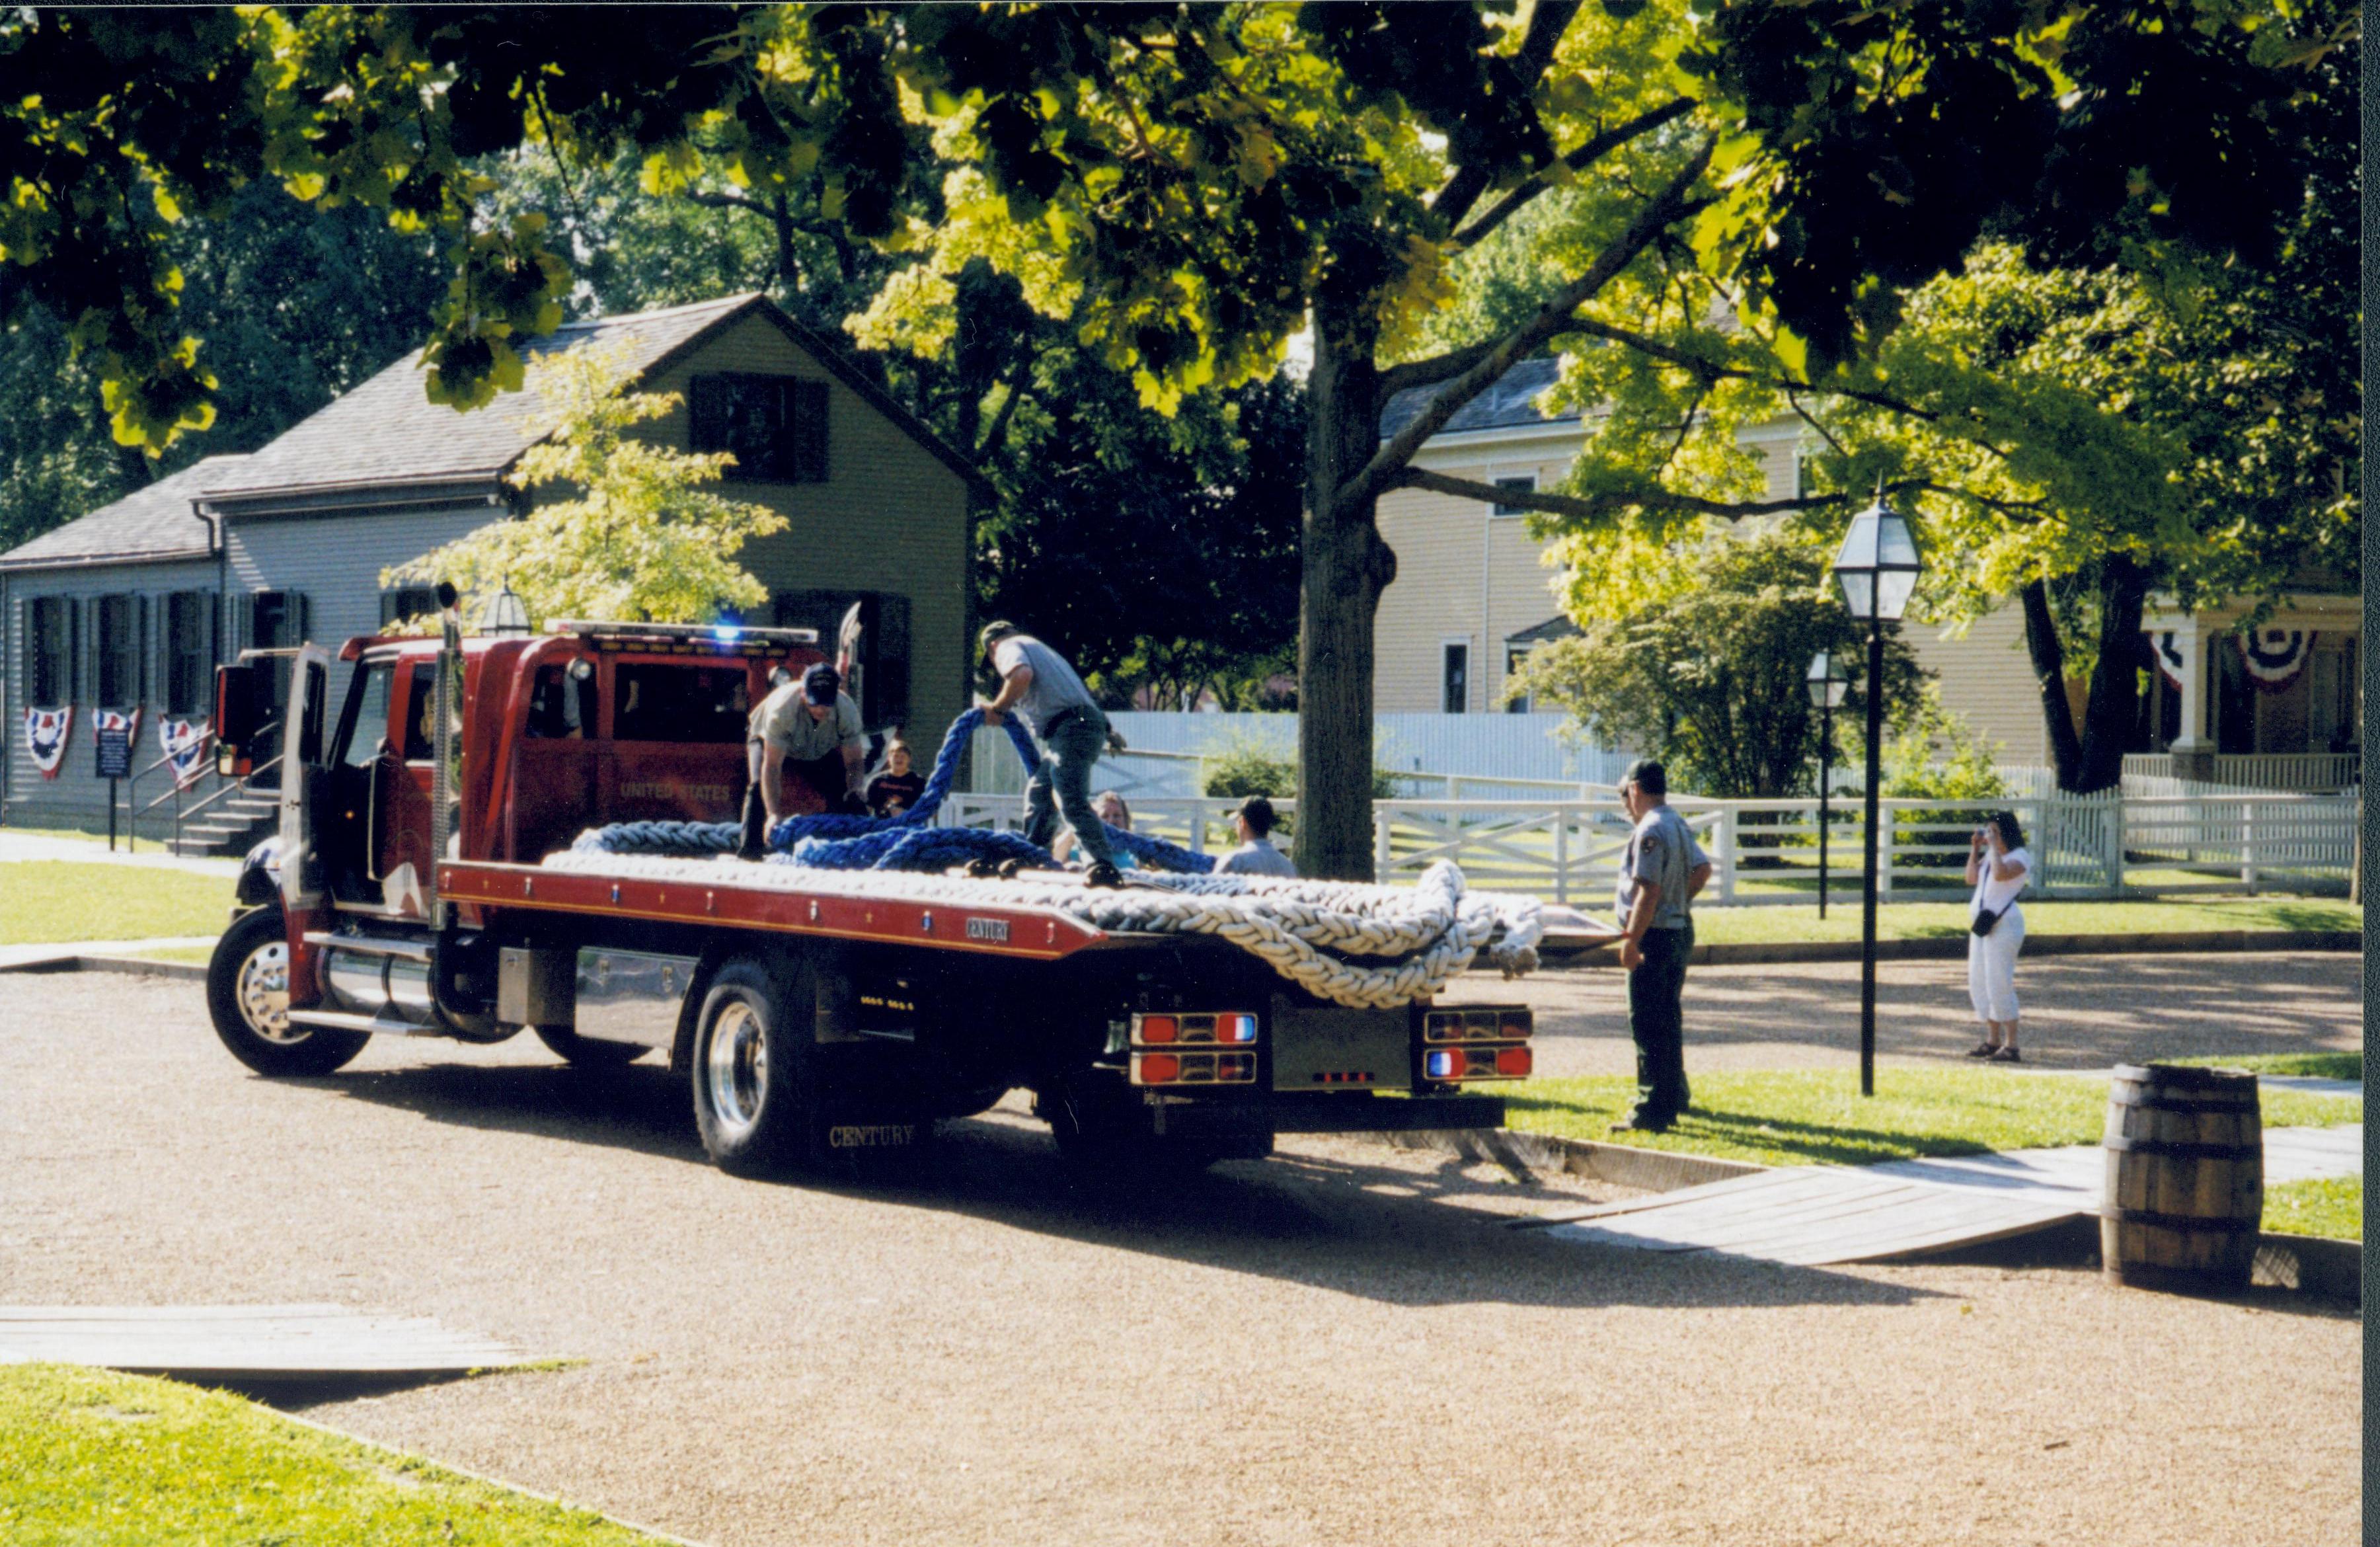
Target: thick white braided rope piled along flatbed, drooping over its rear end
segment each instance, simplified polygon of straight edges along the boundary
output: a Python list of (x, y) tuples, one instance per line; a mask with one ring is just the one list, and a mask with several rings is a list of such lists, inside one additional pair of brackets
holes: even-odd
[[(1219, 935), (1261, 957), (1316, 997), (1349, 1007), (1395, 1007), (1438, 995), (1485, 947), (1507, 978), (1537, 966), (1545, 935), (1535, 897), (1466, 892), (1464, 873), (1438, 862), (1414, 888), (1266, 876), (1142, 876), (1119, 890), (1059, 881), (976, 881), (916, 871), (819, 871), (733, 859), (666, 859), (564, 850), (547, 869), (650, 881), (721, 883), (883, 897), (957, 907), (1045, 907), (1100, 931)], [(1347, 962), (1371, 957), (1378, 962)]]

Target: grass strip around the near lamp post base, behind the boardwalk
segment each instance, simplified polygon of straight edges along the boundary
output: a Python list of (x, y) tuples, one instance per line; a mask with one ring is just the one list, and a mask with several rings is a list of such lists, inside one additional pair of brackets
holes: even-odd
[[(1921, 1154), (1978, 1154), (2047, 1145), (2097, 1145), (2106, 1088), (2018, 1069), (1878, 1069), (1875, 1095), (1844, 1071), (1749, 1071), (1695, 1076), (1695, 1109), (1668, 1133), (1609, 1133), (1635, 1100), (1635, 1081), (1587, 1076), (1523, 1081), (1504, 1121), (1523, 1133), (1626, 1142), (1747, 1159), (1768, 1166), (1866, 1166)], [(2356, 1097), (2263, 1092), (2268, 1128), (2363, 1121)]]

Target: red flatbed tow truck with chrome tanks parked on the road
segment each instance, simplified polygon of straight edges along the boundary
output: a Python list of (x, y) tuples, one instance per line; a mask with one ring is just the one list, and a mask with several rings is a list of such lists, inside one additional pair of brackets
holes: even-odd
[(1530, 1069), (1523, 1007), (1328, 1002), (1214, 935), (1097, 928), (1047, 885), (569, 852), (731, 819), (747, 707), (821, 659), (809, 631), (466, 640), (450, 614), (445, 638), (340, 654), (336, 716), (314, 645), (217, 678), (219, 766), (283, 754), (281, 831), (207, 976), (259, 1073), (331, 1073), (371, 1035), (526, 1028), (590, 1069), (662, 1052), (712, 1159), (769, 1173), (914, 1150), (1014, 1088), (1092, 1164), (1492, 1128), (1492, 1081)]

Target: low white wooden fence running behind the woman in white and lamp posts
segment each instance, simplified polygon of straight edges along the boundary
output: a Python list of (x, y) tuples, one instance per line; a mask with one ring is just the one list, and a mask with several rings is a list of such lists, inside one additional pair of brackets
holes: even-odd
[[(1195, 852), (1230, 847), (1238, 802), (1142, 797), (1133, 828)], [(1295, 821), (1297, 802), (1276, 800)], [(1816, 800), (1690, 800), (1685, 816), (1714, 876), (1704, 902), (1809, 904), (1818, 895)], [(2037, 897), (2128, 897), (2187, 892), (2340, 892), (2356, 843), (2354, 797), (2337, 795), (2187, 795), (2125, 797), (2028, 795), (1987, 802), (2013, 809), (2035, 854)], [(1983, 802), (1885, 800), (1878, 833), (1878, 892), (1902, 902), (1966, 897), (1968, 835)], [(952, 795), (945, 826), (1014, 828), (1016, 795)], [(1849, 900), (1861, 885), (1864, 821), (1859, 800), (1833, 802), (1828, 821), (1828, 895)], [(1433, 859), (1452, 859), (1483, 888), (1521, 890), (1557, 902), (1602, 904), (1618, 881), (1628, 814), (1614, 797), (1590, 800), (1378, 800), (1373, 864), (1383, 881), (1411, 881)]]

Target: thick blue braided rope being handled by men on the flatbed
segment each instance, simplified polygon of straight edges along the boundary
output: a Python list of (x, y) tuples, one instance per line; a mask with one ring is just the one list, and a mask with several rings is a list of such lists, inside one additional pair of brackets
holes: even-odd
[[(1016, 859), (1033, 866), (1057, 864), (1050, 850), (1016, 833), (928, 826), (950, 797), (950, 788), (959, 781), (959, 759), (981, 726), (983, 709), (969, 709), (950, 721), (942, 747), (933, 759), (933, 776), (919, 790), (916, 804), (900, 816), (845, 816), (840, 812), (788, 816), (769, 831), (769, 847), (774, 850), (769, 864), (807, 864), (833, 871), (942, 871), (971, 859)], [(1040, 750), (1016, 716), (1004, 716), (1002, 728), (1009, 733), (1016, 757), (1026, 764), (1026, 778), (1031, 778), (1040, 769)], [(614, 821), (612, 826), (581, 833), (571, 847), (597, 854), (709, 859), (712, 854), (733, 850), (740, 838), (743, 823), (735, 821)], [(1192, 854), (1164, 838), (1107, 828), (1107, 843), (1152, 871), (1207, 873), (1214, 869), (1214, 854)]]

